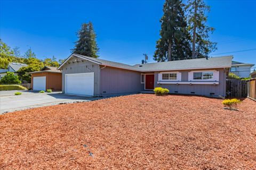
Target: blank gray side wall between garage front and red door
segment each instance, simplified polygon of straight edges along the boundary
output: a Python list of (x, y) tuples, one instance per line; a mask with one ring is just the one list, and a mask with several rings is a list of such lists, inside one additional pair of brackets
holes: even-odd
[(140, 92), (144, 89), (140, 76), (140, 72), (105, 67), (100, 71), (101, 95)]

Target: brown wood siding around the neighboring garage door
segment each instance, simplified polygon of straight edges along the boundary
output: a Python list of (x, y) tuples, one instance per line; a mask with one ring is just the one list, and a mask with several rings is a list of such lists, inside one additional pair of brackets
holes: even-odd
[(42, 72), (42, 73), (33, 73), (31, 74), (31, 88), (33, 89), (33, 78), (34, 77), (46, 77), (46, 89), (52, 90), (61, 90), (62, 82), (61, 82), (61, 73), (49, 73), (49, 72)]

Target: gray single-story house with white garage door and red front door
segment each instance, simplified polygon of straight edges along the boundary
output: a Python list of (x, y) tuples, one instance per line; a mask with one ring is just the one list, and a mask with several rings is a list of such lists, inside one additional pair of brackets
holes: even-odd
[(107, 96), (163, 87), (173, 94), (226, 96), (226, 75), (233, 56), (126, 65), (71, 54), (59, 67), (62, 91)]

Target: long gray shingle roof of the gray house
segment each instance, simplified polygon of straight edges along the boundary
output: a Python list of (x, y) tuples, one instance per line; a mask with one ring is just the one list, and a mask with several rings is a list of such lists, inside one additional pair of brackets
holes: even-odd
[(111, 67), (117, 67), (120, 69), (134, 70), (134, 71), (140, 71), (140, 72), (227, 68), (227, 67), (231, 67), (231, 61), (233, 59), (233, 56), (222, 56), (222, 57), (212, 57), (212, 58), (209, 58), (208, 60), (206, 60), (206, 58), (197, 58), (197, 59), (190, 59), (190, 60), (170, 61), (170, 62), (136, 64), (132, 66), (132, 65), (127, 65), (123, 63), (102, 60), (99, 58), (87, 57), (87, 56), (78, 55), (78, 54), (71, 54), (58, 67), (58, 69), (61, 69), (61, 67), (72, 56), (79, 57), (100, 65), (106, 65)]

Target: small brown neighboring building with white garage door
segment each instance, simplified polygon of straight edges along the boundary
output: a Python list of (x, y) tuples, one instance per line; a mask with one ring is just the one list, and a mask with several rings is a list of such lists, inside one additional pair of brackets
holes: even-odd
[(30, 72), (33, 90), (61, 90), (61, 71), (57, 67), (44, 66), (40, 71)]

